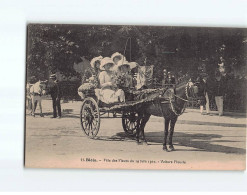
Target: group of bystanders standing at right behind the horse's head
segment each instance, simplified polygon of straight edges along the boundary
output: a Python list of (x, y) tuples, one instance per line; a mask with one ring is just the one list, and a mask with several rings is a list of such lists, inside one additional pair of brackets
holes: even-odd
[(198, 77), (198, 100), (200, 112), (210, 114), (210, 103), (216, 106), (219, 116), (224, 110), (246, 111), (246, 81), (245, 77), (238, 77), (226, 71), (226, 62), (219, 58), (213, 76), (202, 74)]

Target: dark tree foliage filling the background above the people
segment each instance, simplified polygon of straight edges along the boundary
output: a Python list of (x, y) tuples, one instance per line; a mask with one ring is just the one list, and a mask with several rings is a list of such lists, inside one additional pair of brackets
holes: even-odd
[(213, 74), (220, 56), (231, 72), (246, 67), (246, 40), (245, 29), (30, 24), (27, 77), (75, 74), (73, 64), (80, 57), (91, 60), (117, 51), (129, 61), (155, 65), (158, 78), (164, 68), (181, 73), (205, 66), (204, 71)]

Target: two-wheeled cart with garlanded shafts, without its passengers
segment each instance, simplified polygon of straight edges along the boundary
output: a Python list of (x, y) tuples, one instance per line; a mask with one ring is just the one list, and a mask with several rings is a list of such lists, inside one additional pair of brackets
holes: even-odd
[[(138, 120), (141, 119), (138, 115), (138, 110), (143, 104), (151, 101), (159, 101), (169, 103), (162, 94), (166, 89), (144, 89), (141, 91), (131, 92), (137, 100), (126, 101), (124, 103), (115, 103), (107, 105), (97, 100), (97, 97), (91, 92), (83, 100), (80, 110), (80, 123), (83, 132), (89, 138), (97, 136), (100, 129), (101, 116), (107, 112), (117, 112), (122, 115), (122, 127), (128, 136), (134, 136), (138, 127)], [(142, 97), (140, 97), (142, 96)]]

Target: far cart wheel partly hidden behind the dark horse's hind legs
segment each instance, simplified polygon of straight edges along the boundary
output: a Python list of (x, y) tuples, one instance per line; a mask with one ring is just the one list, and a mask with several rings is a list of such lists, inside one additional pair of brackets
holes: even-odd
[(122, 125), (125, 133), (130, 136), (136, 135), (138, 114), (136, 112), (124, 112)]

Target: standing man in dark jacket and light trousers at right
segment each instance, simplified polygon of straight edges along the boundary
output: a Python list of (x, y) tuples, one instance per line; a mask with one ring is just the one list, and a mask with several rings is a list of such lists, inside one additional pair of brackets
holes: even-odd
[(219, 116), (223, 115), (223, 97), (225, 95), (225, 79), (221, 76), (220, 72), (215, 76), (215, 103), (219, 112)]

